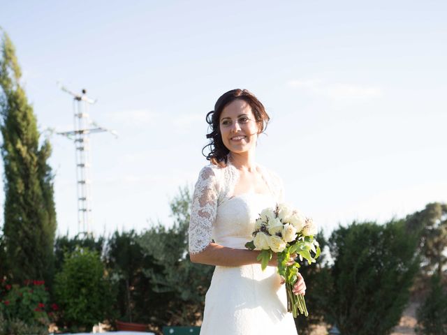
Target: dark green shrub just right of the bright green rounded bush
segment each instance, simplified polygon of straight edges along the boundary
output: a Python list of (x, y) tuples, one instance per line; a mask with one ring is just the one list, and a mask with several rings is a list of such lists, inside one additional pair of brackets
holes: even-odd
[[(117, 281), (117, 306), (120, 318), (126, 322), (149, 323), (152, 299), (148, 292), (151, 285), (143, 269), (155, 265), (152, 258), (145, 256), (135, 231), (115, 232), (108, 241), (105, 257), (111, 276)], [(146, 294), (143, 294), (146, 292)]]

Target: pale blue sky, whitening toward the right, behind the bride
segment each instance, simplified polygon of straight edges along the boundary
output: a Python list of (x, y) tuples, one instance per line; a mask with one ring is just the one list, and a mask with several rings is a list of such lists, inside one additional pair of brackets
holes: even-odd
[[(258, 161), (330, 232), (447, 202), (446, 1), (0, 1), (41, 131), (86, 88), (96, 234), (170, 224), (233, 88), (272, 122)], [(77, 232), (73, 143), (51, 137), (58, 231)], [(3, 192), (0, 201), (3, 202)]]

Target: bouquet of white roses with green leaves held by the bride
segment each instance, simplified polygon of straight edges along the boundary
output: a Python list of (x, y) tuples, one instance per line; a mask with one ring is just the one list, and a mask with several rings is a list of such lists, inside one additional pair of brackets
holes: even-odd
[(260, 250), (258, 260), (264, 270), (272, 259), (273, 253), (277, 254), (278, 274), (284, 278), (287, 291), (287, 308), (296, 318), (298, 311), (305, 316), (307, 313), (305, 297), (293, 294), (293, 285), (298, 280), (297, 274), (300, 264), (293, 262), (287, 265), (291, 255), (298, 255), (311, 263), (316, 262), (320, 255), (318, 241), (314, 239), (316, 226), (312, 218), (306, 218), (300, 211), (289, 207), (287, 204), (277, 204), (274, 208), (266, 208), (261, 211), (256, 220), (254, 239), (245, 244), (251, 250)]

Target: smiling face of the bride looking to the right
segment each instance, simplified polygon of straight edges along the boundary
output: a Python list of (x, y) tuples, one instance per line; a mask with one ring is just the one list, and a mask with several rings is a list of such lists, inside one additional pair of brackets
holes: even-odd
[(241, 99), (236, 99), (223, 108), (219, 130), (223, 144), (231, 152), (240, 154), (256, 147), (258, 124), (250, 105)]

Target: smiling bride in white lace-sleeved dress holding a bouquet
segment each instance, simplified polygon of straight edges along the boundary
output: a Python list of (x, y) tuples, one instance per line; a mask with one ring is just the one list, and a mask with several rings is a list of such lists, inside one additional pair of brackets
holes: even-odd
[[(259, 251), (244, 247), (261, 210), (283, 201), (281, 180), (255, 158), (269, 120), (262, 103), (241, 89), (223, 94), (207, 114), (210, 165), (200, 171), (189, 224), (191, 261), (216, 266), (201, 335), (297, 334), (277, 260), (262, 271)], [(298, 276), (294, 292), (305, 290)]]

